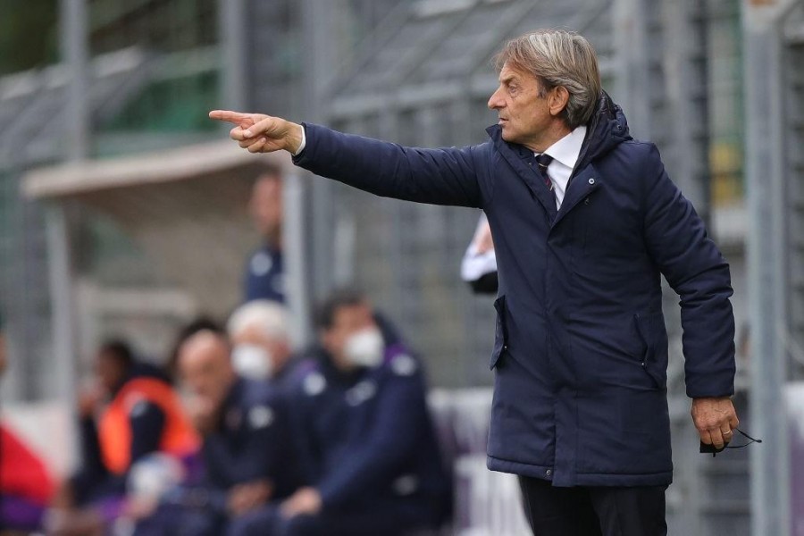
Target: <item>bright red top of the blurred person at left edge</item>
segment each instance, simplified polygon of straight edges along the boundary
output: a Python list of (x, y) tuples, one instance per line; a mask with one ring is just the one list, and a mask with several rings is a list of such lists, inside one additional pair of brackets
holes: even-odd
[(0, 495), (27, 498), (45, 506), (55, 482), (42, 460), (13, 431), (0, 424)]

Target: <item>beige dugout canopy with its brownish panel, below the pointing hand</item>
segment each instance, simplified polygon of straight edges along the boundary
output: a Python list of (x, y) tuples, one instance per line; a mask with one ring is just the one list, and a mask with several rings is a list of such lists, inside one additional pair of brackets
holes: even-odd
[(247, 252), (259, 242), (246, 207), (265, 163), (289, 165), (289, 156), (257, 157), (227, 139), (40, 168), (22, 190), (111, 216), (202, 310), (227, 314), (239, 301)]

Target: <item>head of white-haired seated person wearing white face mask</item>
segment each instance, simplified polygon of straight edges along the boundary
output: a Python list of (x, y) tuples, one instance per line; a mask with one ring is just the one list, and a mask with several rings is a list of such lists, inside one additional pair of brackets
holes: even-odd
[(292, 354), (288, 322), (285, 306), (267, 299), (247, 302), (230, 315), (231, 362), (240, 376), (275, 385), (294, 380), (301, 359)]

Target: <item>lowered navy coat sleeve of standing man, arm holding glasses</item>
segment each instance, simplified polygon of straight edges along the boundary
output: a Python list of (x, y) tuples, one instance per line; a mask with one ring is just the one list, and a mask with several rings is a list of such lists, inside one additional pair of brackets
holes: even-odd
[(734, 392), (734, 315), (729, 265), (704, 223), (665, 172), (658, 150), (645, 172), (645, 239), (649, 254), (681, 298), (687, 396)]

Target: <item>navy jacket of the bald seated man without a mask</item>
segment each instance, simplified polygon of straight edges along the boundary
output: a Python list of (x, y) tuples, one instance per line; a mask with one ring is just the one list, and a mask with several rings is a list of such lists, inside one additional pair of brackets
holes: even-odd
[(288, 407), (279, 389), (239, 379), (224, 403), (218, 430), (204, 438), (206, 483), (229, 490), (267, 479), (274, 498), (288, 496), (298, 484), (289, 435)]

